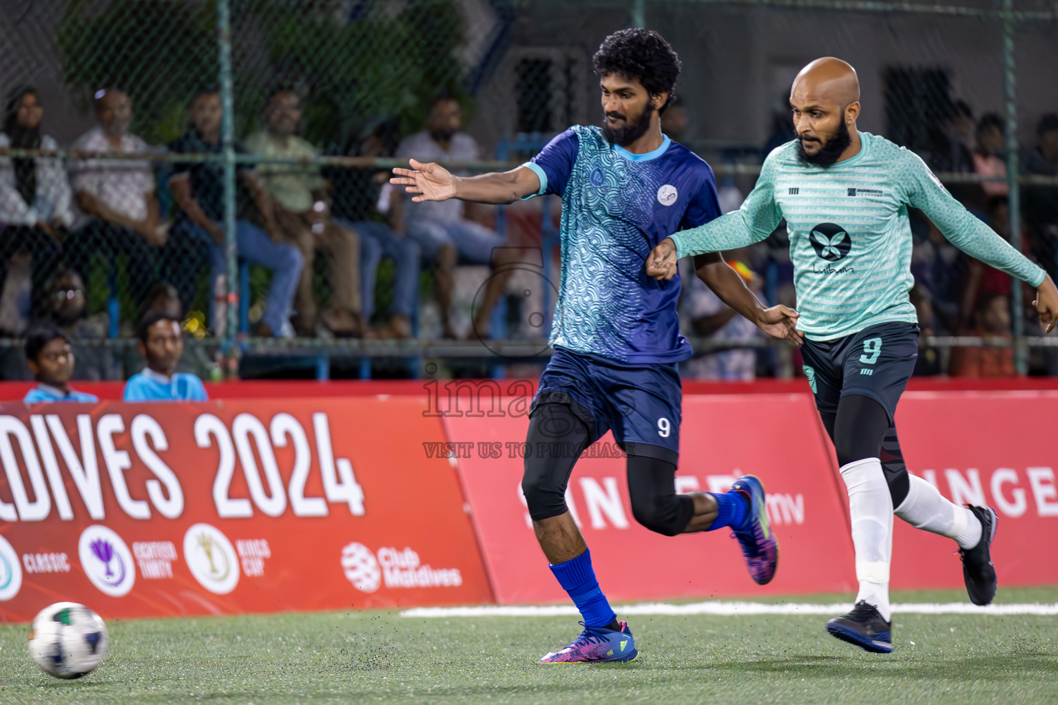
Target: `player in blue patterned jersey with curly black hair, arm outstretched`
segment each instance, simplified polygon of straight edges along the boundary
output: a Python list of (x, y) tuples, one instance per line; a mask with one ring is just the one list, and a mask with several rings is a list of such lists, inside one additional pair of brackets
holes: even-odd
[[(531, 162), (504, 173), (457, 178), (412, 160), (412, 169), (395, 169), (391, 180), (416, 201), (562, 197), (554, 354), (541, 377), (526, 440), (530, 448), (574, 452), (527, 453), (522, 488), (541, 549), (584, 616), (584, 630), (541, 658), (544, 664), (631, 661), (638, 653), (627, 624), (617, 619), (599, 587), (565, 501), (581, 450), (607, 430), (627, 456), (632, 511), (641, 524), (665, 536), (730, 527), (761, 585), (771, 579), (779, 557), (756, 478), (740, 478), (724, 494), (675, 491), (676, 365), (690, 357), (691, 347), (679, 334), (678, 279), (655, 281), (643, 263), (660, 240), (719, 216), (709, 165), (661, 132), (679, 59), (657, 33), (624, 30), (603, 41), (594, 63), (601, 128), (572, 127)], [(764, 331), (798, 340), (797, 314), (765, 309), (718, 256), (704, 258), (698, 276)]]

